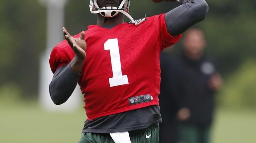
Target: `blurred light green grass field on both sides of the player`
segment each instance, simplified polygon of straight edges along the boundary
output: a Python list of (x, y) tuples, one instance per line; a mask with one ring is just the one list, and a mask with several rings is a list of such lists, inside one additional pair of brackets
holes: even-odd
[[(0, 104), (0, 143), (76, 143), (84, 110), (49, 113), (38, 104)], [(256, 143), (256, 112), (218, 110), (212, 143)]]

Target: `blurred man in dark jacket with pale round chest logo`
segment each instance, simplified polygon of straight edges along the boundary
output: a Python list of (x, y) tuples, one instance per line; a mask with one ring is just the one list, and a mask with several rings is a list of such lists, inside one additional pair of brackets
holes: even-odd
[[(211, 58), (205, 53), (206, 41), (202, 30), (189, 29), (178, 58), (182, 73), (182, 93), (179, 96), (180, 143), (208, 143), (214, 112), (214, 95), (222, 87), (222, 78)], [(179, 68), (179, 67), (178, 67)], [(179, 81), (180, 82), (180, 81)]]

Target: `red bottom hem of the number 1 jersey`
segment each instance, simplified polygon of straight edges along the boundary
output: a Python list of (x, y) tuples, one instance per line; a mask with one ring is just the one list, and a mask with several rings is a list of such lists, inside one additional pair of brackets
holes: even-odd
[(130, 110), (144, 108), (144, 107), (151, 106), (151, 105), (159, 105), (159, 101), (153, 101), (153, 102), (146, 102), (146, 103), (141, 103), (141, 104), (136, 104), (136, 105), (130, 105), (129, 107), (117, 109), (117, 110), (114, 110), (114, 111), (100, 113), (100, 114), (97, 114), (97, 115), (94, 115), (94, 116), (91, 116), (91, 117), (87, 116), (87, 120), (90, 121), (90, 120), (94, 120), (94, 119), (99, 118), (99, 117), (104, 117), (104, 116), (113, 115), (113, 114), (117, 114), (117, 113), (122, 113), (122, 112), (130, 111)]

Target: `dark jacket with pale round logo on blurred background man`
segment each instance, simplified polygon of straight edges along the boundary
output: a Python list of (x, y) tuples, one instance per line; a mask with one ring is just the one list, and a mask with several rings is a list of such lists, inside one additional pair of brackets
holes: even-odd
[(182, 65), (180, 71), (183, 72), (180, 107), (188, 107), (191, 111), (190, 119), (184, 123), (210, 125), (214, 109), (214, 91), (209, 88), (208, 83), (211, 75), (216, 72), (212, 60), (206, 54), (199, 60), (192, 60), (181, 54), (178, 62)]

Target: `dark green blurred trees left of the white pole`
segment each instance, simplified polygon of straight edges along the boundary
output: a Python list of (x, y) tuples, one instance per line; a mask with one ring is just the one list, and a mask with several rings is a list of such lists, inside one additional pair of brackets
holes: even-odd
[(23, 89), (20, 94), (36, 94), (38, 58), (45, 47), (45, 25), (45, 9), (37, 1), (1, 1), (0, 87), (15, 82)]

